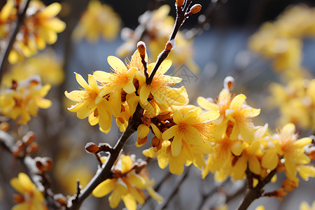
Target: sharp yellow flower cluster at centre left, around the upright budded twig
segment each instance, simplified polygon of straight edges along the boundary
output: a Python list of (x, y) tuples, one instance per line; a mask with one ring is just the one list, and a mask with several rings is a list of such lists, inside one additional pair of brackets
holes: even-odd
[[(146, 85), (138, 50), (126, 64), (114, 56), (107, 60), (113, 72), (94, 71), (88, 76), (88, 84), (76, 73), (76, 80), (83, 90), (65, 92), (66, 97), (77, 102), (69, 111), (76, 112), (80, 119), (88, 117), (90, 125), (98, 123), (102, 132), (109, 132), (112, 118), (116, 119), (120, 131), (124, 131), (138, 103), (144, 109), (144, 116), (150, 118), (188, 102), (185, 87), (170, 87), (181, 81), (165, 75), (172, 64), (170, 60), (162, 62), (150, 85)], [(148, 73), (153, 66), (155, 63), (148, 64)]]

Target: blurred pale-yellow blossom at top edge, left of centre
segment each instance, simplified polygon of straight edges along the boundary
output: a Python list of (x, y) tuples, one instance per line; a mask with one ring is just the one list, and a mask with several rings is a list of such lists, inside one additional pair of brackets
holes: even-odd
[(96, 43), (99, 36), (106, 40), (116, 38), (120, 29), (120, 18), (113, 8), (99, 1), (90, 1), (83, 13), (78, 26), (73, 31), (73, 37), (80, 41), (87, 38), (90, 43)]

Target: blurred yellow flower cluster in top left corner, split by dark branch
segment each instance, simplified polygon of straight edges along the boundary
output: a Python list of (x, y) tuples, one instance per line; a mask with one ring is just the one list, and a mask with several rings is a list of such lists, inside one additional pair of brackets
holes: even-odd
[[(22, 2), (22, 3), (21, 3)], [(17, 19), (17, 9), (23, 6), (23, 1), (7, 1), (0, 12), (0, 37), (6, 38), (8, 31)], [(35, 55), (38, 50), (43, 50), (46, 43), (53, 44), (57, 41), (57, 33), (64, 31), (66, 25), (56, 18), (61, 10), (60, 3), (45, 6), (41, 1), (31, 1), (26, 11), (25, 22), (16, 36), (13, 49), (8, 60), (10, 63), (18, 62), (23, 57)]]

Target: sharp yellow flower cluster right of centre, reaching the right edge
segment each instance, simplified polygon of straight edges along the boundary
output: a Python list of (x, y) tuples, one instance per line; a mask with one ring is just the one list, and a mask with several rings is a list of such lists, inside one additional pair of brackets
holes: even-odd
[(260, 109), (248, 106), (245, 99), (244, 94), (233, 97), (228, 88), (221, 91), (216, 101), (198, 98), (202, 108), (221, 113), (213, 121), (214, 139), (202, 176), (216, 173), (216, 181), (224, 181), (228, 176), (245, 179), (251, 173), (262, 180), (273, 170), (284, 171), (287, 179), (273, 195), (282, 199), (298, 186), (297, 172), (302, 179), (315, 177), (315, 167), (309, 165), (310, 158), (304, 151), (311, 139), (298, 139), (292, 123), (276, 134), (267, 131), (267, 124), (253, 125), (251, 118), (258, 116)]

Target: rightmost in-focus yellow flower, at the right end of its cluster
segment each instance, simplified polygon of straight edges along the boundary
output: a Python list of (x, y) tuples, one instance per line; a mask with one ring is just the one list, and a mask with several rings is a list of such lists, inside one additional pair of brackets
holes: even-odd
[(304, 154), (304, 146), (311, 143), (310, 138), (297, 139), (295, 134), (295, 125), (286, 124), (279, 134), (272, 136), (276, 151), (283, 156), (284, 167), (286, 168), (286, 176), (288, 179), (295, 179), (298, 165), (307, 165), (311, 161)]

